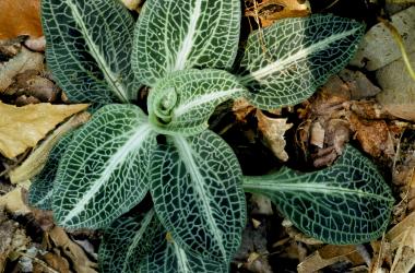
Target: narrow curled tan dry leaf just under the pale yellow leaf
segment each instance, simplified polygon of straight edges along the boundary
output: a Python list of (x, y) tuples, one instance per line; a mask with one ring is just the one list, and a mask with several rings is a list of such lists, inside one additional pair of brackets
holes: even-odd
[(36, 147), (31, 155), (15, 169), (10, 171), (10, 181), (12, 183), (24, 182), (40, 173), (45, 166), (50, 150), (67, 132), (85, 123), (90, 119), (90, 114), (80, 112), (58, 127), (47, 139)]

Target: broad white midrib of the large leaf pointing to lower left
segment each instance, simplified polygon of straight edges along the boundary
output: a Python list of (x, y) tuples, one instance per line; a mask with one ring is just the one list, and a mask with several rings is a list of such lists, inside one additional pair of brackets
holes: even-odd
[(133, 135), (121, 147), (118, 149), (107, 162), (105, 170), (100, 176), (95, 180), (91, 181), (91, 187), (87, 191), (84, 192), (81, 200), (73, 206), (71, 211), (61, 222), (61, 225), (64, 225), (73, 217), (78, 216), (82, 211), (84, 211), (85, 205), (97, 194), (103, 186), (108, 181), (114, 170), (124, 162), (127, 155), (137, 151), (147, 138), (147, 134), (151, 132), (150, 124), (141, 126)]

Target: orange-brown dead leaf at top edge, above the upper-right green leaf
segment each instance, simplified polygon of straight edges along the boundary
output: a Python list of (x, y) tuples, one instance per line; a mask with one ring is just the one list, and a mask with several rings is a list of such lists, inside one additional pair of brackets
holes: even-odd
[(278, 19), (307, 16), (311, 12), (308, 0), (251, 0), (251, 2), (253, 7), (247, 9), (245, 15), (258, 17), (263, 27), (272, 25)]

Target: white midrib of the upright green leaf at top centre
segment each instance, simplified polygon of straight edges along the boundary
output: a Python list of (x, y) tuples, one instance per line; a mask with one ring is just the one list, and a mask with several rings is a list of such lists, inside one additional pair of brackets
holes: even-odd
[(197, 31), (195, 27), (198, 25), (198, 20), (201, 15), (201, 7), (202, 0), (197, 0), (194, 3), (194, 9), (189, 11), (189, 29), (186, 34), (183, 43), (181, 44), (180, 50), (177, 52), (174, 71), (183, 70), (186, 67), (186, 60), (188, 59), (194, 44), (194, 35)]

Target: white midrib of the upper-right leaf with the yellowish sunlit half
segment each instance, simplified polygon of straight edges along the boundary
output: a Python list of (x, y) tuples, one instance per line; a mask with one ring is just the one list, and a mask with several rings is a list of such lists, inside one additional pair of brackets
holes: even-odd
[(339, 34), (329, 36), (329, 37), (327, 37), (327, 38), (324, 38), (324, 39), (322, 39), (316, 44), (312, 44), (309, 47), (300, 49), (298, 52), (290, 55), (285, 59), (276, 60), (276, 61), (257, 70), (257, 71), (251, 72), (250, 74), (248, 74), (246, 76), (242, 76), (240, 79), (240, 81), (242, 84), (247, 84), (253, 80), (260, 81), (261, 79), (263, 79), (263, 78), (265, 78), (272, 73), (285, 70), (287, 67), (289, 67), (289, 64), (292, 64), (298, 60), (301, 60), (301, 59), (306, 58), (307, 56), (309, 56), (313, 52), (324, 50), (325, 48), (330, 47), (330, 44), (332, 44), (336, 40), (343, 39), (344, 37), (347, 37), (349, 35), (353, 35), (357, 31), (358, 31), (358, 28), (353, 28), (353, 29), (347, 31), (347, 32), (343, 32), (343, 33), (339, 33)]

